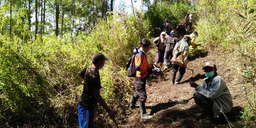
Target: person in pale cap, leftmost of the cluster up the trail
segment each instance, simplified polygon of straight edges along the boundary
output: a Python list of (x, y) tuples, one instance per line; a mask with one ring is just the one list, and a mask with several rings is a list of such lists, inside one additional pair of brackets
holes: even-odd
[(165, 32), (162, 32), (159, 37), (156, 37), (153, 41), (154, 46), (157, 48), (156, 54), (155, 54), (155, 64), (159, 64), (162, 66), (164, 62), (164, 56), (165, 56), (165, 37), (167, 34)]

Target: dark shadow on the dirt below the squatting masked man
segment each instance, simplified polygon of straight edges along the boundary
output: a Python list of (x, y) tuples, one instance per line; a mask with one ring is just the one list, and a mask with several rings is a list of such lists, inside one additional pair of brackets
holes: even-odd
[(165, 110), (157, 114), (158, 117), (155, 117), (154, 124), (155, 126), (163, 126), (164, 128), (221, 128), (222, 126), (232, 125), (238, 121), (239, 116), (241, 116), (240, 111), (242, 111), (242, 108), (236, 106), (233, 107), (230, 113), (225, 114), (226, 118), (222, 115), (213, 122), (203, 123), (199, 121), (199, 119), (205, 118), (202, 116), (204, 114), (201, 108), (197, 105), (193, 105), (187, 110)]

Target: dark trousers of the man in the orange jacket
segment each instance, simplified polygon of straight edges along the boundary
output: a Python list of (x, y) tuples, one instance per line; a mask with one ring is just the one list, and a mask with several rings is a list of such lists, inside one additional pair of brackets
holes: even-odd
[(145, 102), (146, 101), (146, 77), (139, 78), (135, 77), (135, 89), (136, 92), (133, 94), (133, 97), (138, 98), (139, 101)]

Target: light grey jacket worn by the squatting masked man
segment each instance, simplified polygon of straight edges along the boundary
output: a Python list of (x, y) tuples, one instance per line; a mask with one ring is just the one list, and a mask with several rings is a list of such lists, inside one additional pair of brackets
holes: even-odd
[[(207, 81), (209, 81), (208, 86)], [(223, 78), (218, 74), (213, 79), (205, 79), (203, 85), (198, 85), (195, 88), (195, 91), (213, 100), (214, 117), (219, 117), (220, 114), (228, 113), (233, 108), (230, 91)]]

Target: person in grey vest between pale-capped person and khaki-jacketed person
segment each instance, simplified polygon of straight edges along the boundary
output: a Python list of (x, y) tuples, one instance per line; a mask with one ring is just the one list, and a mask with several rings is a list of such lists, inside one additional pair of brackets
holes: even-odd
[(168, 61), (173, 57), (173, 50), (177, 41), (178, 38), (175, 37), (174, 30), (172, 30), (171, 34), (165, 38), (164, 70), (168, 68)]

